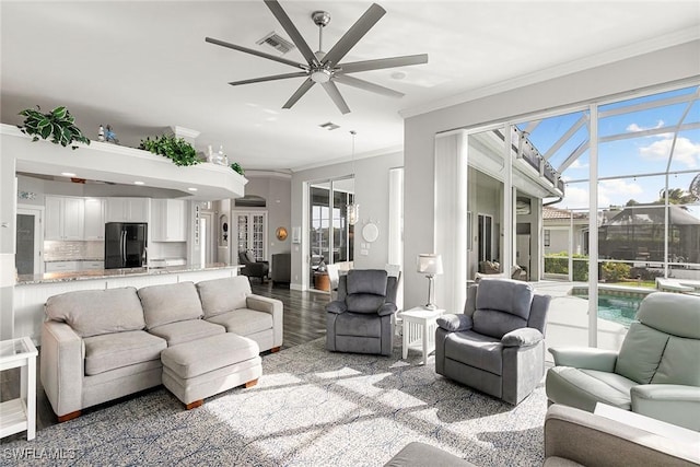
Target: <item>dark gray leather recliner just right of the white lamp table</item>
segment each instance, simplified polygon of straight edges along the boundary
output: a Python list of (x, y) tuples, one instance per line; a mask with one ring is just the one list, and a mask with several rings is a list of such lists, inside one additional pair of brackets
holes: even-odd
[(550, 300), (527, 282), (481, 279), (467, 290), (463, 314), (438, 318), (435, 372), (520, 404), (545, 375)]

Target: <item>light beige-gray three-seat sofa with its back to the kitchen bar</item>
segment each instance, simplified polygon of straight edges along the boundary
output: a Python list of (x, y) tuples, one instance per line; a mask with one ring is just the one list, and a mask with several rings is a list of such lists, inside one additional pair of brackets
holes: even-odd
[(247, 277), (68, 292), (45, 311), (40, 380), (59, 421), (160, 385), (166, 348), (226, 332), (259, 351), (282, 345), (282, 302), (253, 294)]

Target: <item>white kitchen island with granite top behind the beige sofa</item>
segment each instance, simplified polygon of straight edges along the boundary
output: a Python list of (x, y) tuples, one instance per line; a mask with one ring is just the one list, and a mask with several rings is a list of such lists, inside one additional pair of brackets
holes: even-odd
[(40, 341), (44, 304), (52, 295), (77, 290), (140, 289), (165, 283), (199, 282), (237, 276), (240, 268), (235, 265), (211, 264), (21, 275), (14, 287), (14, 336), (30, 336), (34, 342)]

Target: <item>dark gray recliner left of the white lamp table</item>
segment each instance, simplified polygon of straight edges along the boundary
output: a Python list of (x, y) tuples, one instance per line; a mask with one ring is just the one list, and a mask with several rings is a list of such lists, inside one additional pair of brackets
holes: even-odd
[(326, 306), (326, 349), (390, 355), (398, 279), (385, 270), (351, 269)]

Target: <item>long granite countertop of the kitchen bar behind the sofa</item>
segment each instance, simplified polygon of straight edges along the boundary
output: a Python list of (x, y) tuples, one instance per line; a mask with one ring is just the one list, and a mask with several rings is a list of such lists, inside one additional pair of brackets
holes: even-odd
[(170, 266), (166, 268), (95, 269), (91, 271), (46, 272), (44, 275), (20, 275), (18, 276), (16, 284), (28, 285), (37, 283), (69, 282), (126, 276), (171, 275), (177, 272), (207, 271), (226, 268), (241, 268), (241, 266), (225, 265), (223, 262), (212, 262), (205, 266)]

